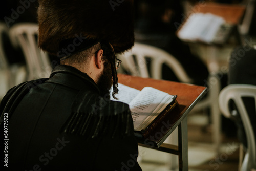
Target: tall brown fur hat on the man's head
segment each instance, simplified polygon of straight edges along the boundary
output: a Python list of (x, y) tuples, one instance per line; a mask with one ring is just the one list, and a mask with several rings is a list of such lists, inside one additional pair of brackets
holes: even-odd
[(109, 41), (116, 53), (134, 45), (133, 0), (39, 0), (39, 47), (56, 55), (60, 41)]

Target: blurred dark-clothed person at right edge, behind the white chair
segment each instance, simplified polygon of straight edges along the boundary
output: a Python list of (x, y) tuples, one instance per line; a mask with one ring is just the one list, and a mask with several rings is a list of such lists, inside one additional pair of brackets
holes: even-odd
[[(256, 85), (256, 50), (249, 46), (239, 46), (235, 48), (229, 59), (229, 72), (228, 72), (228, 84), (251, 84)], [(252, 97), (242, 98), (245, 108), (248, 112), (251, 125), (256, 133), (256, 111), (255, 111), (255, 99)], [(236, 105), (230, 101), (230, 111), (236, 112), (236, 116), (231, 116), (234, 123), (237, 125), (237, 136), (240, 142), (245, 148), (247, 148), (246, 134), (244, 126), (241, 120), (239, 112), (237, 111)], [(233, 130), (234, 131), (234, 130)], [(255, 135), (256, 136), (256, 135)]]

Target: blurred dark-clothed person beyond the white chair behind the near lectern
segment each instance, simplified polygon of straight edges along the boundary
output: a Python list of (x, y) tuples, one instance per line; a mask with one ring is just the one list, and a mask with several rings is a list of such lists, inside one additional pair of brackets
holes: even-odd
[[(177, 36), (175, 22), (182, 22), (180, 1), (139, 0), (136, 4), (135, 41), (161, 48), (181, 63), (194, 84), (207, 86), (208, 69)], [(171, 69), (163, 66), (163, 79), (178, 81)]]

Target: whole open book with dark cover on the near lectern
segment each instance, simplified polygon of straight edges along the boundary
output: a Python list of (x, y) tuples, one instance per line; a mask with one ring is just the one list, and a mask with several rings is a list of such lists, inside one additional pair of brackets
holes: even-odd
[[(129, 104), (135, 135), (146, 138), (162, 119), (178, 104), (174, 95), (152, 87), (144, 87), (141, 91), (118, 84), (118, 100)], [(112, 92), (113, 90), (111, 90)]]

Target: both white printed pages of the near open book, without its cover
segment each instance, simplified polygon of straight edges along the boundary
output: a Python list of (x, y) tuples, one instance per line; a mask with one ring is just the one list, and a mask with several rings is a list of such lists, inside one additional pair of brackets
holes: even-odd
[[(129, 104), (136, 131), (145, 129), (175, 97), (152, 87), (144, 87), (139, 91), (120, 83), (118, 85), (118, 100), (112, 96), (110, 99)], [(113, 89), (110, 90), (112, 92)]]

